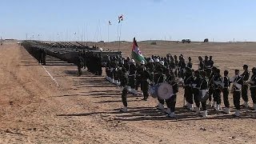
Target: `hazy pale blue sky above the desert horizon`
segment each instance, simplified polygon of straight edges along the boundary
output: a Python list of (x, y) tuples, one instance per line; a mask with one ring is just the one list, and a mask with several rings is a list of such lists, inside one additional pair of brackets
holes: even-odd
[(254, 0), (0, 0), (0, 15), (2, 38), (256, 41)]

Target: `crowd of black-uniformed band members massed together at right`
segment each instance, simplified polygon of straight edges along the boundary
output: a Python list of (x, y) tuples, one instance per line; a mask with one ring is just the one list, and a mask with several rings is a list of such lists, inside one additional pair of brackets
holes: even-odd
[[(249, 107), (248, 89), (250, 87), (253, 109), (256, 110), (256, 68), (252, 69), (252, 76), (248, 66), (244, 65), (244, 72), (240, 75), (239, 70), (234, 70), (234, 77), (229, 78), (229, 71), (225, 70), (222, 77), (220, 70), (214, 66), (212, 57), (204, 59), (198, 57), (198, 70), (192, 69), (192, 59), (189, 57), (186, 62), (184, 56), (179, 57), (167, 54), (166, 58), (152, 55), (140, 62), (134, 59), (113, 57), (106, 62), (106, 80), (118, 85), (122, 90), (122, 112), (127, 112), (127, 94), (138, 94), (138, 87), (141, 87), (143, 101), (149, 98), (150, 87), (161, 83), (168, 83), (173, 88), (173, 94), (168, 99), (158, 98), (158, 110), (166, 110), (167, 116), (175, 118), (175, 107), (178, 88), (184, 89), (184, 106), (188, 110), (207, 118), (207, 106), (214, 107), (214, 110), (222, 110), (221, 94), (225, 108), (222, 110), (230, 114), (230, 86), (233, 92), (234, 117), (240, 117), (240, 98), (244, 101), (242, 106)], [(249, 81), (250, 79), (250, 81)], [(164, 105), (166, 104), (167, 109)], [(202, 109), (202, 112), (200, 112)]]

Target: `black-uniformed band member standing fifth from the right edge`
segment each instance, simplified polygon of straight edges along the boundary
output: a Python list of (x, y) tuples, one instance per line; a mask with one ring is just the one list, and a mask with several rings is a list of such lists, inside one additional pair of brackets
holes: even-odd
[(215, 110), (221, 109), (221, 93), (222, 93), (222, 76), (221, 71), (217, 69), (215, 71), (214, 76), (214, 102), (216, 102), (216, 105), (214, 106)]

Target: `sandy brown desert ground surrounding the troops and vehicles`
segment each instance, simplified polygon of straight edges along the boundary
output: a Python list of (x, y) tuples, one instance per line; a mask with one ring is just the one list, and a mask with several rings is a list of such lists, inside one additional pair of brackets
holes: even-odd
[[(212, 55), (221, 70), (256, 66), (256, 43), (138, 42), (142, 54), (184, 54), (193, 58)], [(131, 42), (104, 44), (106, 49), (130, 55)], [(157, 100), (141, 101), (129, 95), (129, 113), (122, 106), (117, 87), (76, 66), (47, 58), (46, 70), (16, 43), (0, 46), (0, 143), (255, 143), (256, 114), (242, 110), (241, 118), (210, 109), (199, 118), (182, 109), (183, 90), (178, 93), (177, 120), (154, 108)], [(232, 113), (234, 106), (230, 95)], [(223, 104), (222, 104), (223, 105)], [(251, 105), (251, 99), (250, 99)]]

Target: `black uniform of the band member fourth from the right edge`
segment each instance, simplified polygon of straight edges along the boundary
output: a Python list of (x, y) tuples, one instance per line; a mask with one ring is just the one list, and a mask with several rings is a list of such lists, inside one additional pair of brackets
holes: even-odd
[(229, 102), (230, 78), (228, 76), (224, 76), (223, 82), (224, 82), (224, 86), (222, 88), (222, 93), (223, 93), (224, 105), (226, 108), (230, 108), (230, 102)]

